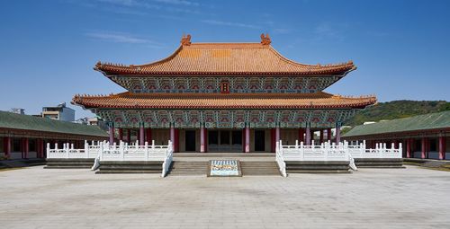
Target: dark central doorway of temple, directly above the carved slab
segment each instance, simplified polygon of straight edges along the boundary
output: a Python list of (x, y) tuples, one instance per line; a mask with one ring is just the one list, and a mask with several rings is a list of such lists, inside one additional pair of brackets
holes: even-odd
[(242, 130), (209, 130), (208, 152), (242, 152)]

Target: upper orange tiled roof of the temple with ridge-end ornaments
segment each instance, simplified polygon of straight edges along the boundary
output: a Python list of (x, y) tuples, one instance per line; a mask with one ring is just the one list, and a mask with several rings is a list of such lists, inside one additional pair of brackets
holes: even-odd
[(352, 61), (338, 65), (304, 65), (278, 53), (268, 34), (260, 43), (191, 43), (184, 36), (175, 52), (146, 65), (124, 66), (98, 62), (104, 75), (346, 75)]

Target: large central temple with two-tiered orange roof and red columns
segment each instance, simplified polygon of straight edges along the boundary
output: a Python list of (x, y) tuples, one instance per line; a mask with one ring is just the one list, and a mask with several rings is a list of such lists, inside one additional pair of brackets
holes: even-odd
[(73, 103), (109, 123), (110, 142), (165, 145), (175, 152), (275, 152), (329, 140), (374, 96), (323, 92), (354, 71), (352, 61), (304, 65), (278, 53), (266, 34), (255, 43), (193, 43), (183, 36), (175, 52), (145, 65), (98, 62), (94, 70), (126, 92), (76, 95)]

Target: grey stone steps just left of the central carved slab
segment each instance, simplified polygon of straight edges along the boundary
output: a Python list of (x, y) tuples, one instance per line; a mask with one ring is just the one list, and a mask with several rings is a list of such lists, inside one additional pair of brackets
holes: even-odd
[(170, 176), (182, 176), (182, 175), (204, 175), (208, 170), (209, 162), (184, 162), (175, 161), (172, 163), (170, 169)]

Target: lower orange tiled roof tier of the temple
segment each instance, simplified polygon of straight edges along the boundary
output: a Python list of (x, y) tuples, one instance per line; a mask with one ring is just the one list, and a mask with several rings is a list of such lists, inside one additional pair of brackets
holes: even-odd
[(132, 93), (76, 95), (72, 103), (85, 108), (121, 109), (333, 109), (365, 108), (374, 96), (344, 97), (316, 93)]

